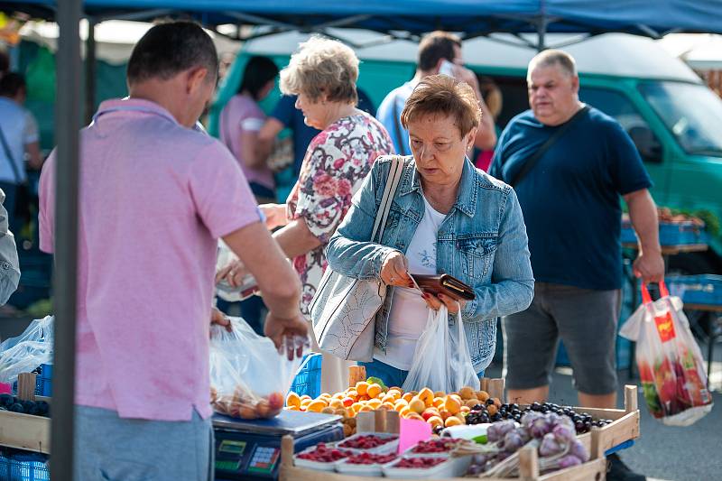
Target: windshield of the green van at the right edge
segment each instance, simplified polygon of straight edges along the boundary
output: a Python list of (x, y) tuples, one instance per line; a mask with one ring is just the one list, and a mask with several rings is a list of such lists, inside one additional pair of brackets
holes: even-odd
[(686, 153), (722, 157), (722, 100), (709, 88), (650, 81), (639, 89)]

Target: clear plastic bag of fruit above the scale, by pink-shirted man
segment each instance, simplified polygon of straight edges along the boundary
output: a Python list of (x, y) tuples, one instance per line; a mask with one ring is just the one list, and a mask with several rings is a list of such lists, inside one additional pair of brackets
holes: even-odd
[(210, 333), (210, 397), (215, 411), (242, 419), (273, 418), (301, 365), (279, 354), (273, 341), (257, 335), (244, 319), (230, 318), (231, 332)]

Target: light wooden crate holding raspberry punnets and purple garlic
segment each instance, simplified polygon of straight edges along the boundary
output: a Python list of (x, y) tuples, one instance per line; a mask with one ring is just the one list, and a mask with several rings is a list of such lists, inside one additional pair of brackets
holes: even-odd
[[(395, 416), (394, 416), (395, 414)], [(365, 426), (365, 431), (371, 432), (398, 432), (398, 414), (396, 412), (359, 412), (359, 422)], [(385, 419), (382, 419), (385, 417)], [(520, 474), (516, 479), (524, 481), (602, 481), (606, 479), (606, 459), (604, 450), (599, 442), (601, 430), (595, 428), (589, 437), (590, 453), (592, 459), (577, 467), (569, 467), (560, 471), (540, 476), (536, 449), (524, 448), (520, 451)], [(283, 436), (281, 440), (281, 469), (279, 481), (375, 481), (379, 479), (368, 476), (348, 476), (340, 473), (317, 471), (293, 465), (293, 438)], [(468, 481), (470, 477), (450, 477), (448, 481)], [(510, 478), (500, 479), (485, 477), (486, 481), (508, 481)], [(419, 480), (421, 481), (421, 480)], [(432, 480), (433, 481), (433, 480)]]

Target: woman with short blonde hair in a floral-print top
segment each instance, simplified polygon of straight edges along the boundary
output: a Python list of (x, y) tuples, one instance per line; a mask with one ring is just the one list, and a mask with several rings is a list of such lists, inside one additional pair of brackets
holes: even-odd
[[(389, 134), (373, 116), (356, 108), (358, 58), (347, 45), (322, 37), (303, 42), (281, 71), (281, 90), (296, 95), (306, 125), (321, 132), (311, 141), (301, 174), (285, 204), (261, 209), (273, 237), (301, 276), (301, 312), (309, 304), (326, 269), (324, 248), (351, 207), (351, 197), (380, 155), (393, 153)], [(227, 274), (229, 282), (242, 271)], [(323, 360), (321, 389), (347, 387), (347, 363)]]

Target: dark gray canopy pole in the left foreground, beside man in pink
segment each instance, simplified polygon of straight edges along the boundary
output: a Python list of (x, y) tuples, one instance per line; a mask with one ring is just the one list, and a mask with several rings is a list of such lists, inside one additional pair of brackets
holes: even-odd
[(55, 344), (52, 380), (51, 479), (72, 481), (75, 326), (78, 273), (81, 0), (58, 2), (55, 140)]

